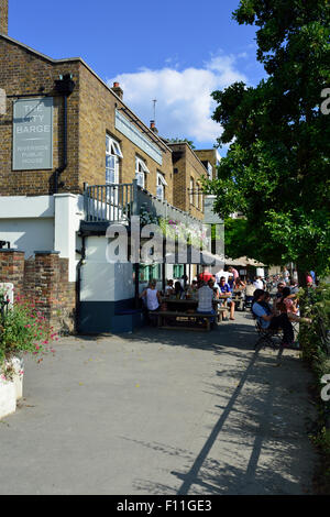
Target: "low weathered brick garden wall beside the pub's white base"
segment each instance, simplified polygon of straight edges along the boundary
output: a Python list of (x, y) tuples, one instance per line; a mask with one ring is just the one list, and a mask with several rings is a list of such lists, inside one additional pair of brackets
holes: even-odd
[(76, 284), (68, 282), (68, 258), (58, 252), (36, 251), (24, 260), (24, 252), (0, 250), (0, 283), (14, 285), (14, 298), (35, 302), (48, 324), (57, 332), (75, 331)]

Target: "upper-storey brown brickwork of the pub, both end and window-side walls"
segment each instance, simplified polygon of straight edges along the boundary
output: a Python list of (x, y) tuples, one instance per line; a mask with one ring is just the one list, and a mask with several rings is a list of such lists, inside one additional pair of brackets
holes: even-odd
[[(0, 0), (1, 1), (1, 0)], [(163, 152), (163, 164), (133, 144), (114, 129), (114, 110), (124, 105), (84, 64), (81, 59), (54, 61), (0, 36), (0, 88), (7, 96), (37, 94), (54, 97), (53, 169), (12, 170), (12, 116), (14, 98), (8, 97), (7, 113), (0, 124), (0, 195), (47, 195), (54, 193), (54, 172), (63, 163), (63, 97), (55, 91), (59, 75), (72, 74), (74, 92), (67, 101), (67, 158), (68, 166), (61, 175), (64, 187), (59, 193), (82, 193), (84, 183), (106, 183), (106, 133), (120, 142), (123, 160), (120, 160), (120, 182), (132, 183), (135, 177), (135, 156), (143, 158), (151, 172), (146, 175), (146, 188), (156, 194), (157, 170), (168, 184), (166, 197), (173, 202), (173, 165), (169, 150)], [(141, 121), (140, 121), (141, 124)], [(148, 128), (144, 131), (147, 134)]]

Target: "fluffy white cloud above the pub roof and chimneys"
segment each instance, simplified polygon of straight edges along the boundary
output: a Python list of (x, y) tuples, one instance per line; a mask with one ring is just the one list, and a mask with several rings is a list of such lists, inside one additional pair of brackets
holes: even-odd
[(237, 68), (237, 58), (218, 54), (201, 68), (177, 69), (168, 65), (162, 69), (142, 68), (136, 73), (120, 74), (108, 80), (120, 82), (124, 102), (147, 125), (153, 119), (153, 99), (156, 102), (156, 127), (164, 138), (187, 138), (198, 146), (211, 146), (221, 134), (221, 127), (211, 120), (215, 102), (210, 94), (246, 77)]

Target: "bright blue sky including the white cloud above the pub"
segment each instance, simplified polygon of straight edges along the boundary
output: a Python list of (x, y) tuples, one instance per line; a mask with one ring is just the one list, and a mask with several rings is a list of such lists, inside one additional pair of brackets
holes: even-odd
[[(9, 35), (54, 58), (82, 57), (165, 138), (211, 147), (210, 92), (234, 80), (256, 85), (255, 29), (231, 18), (239, 0), (9, 0)], [(56, 8), (55, 8), (56, 6)], [(220, 151), (226, 154), (226, 150)]]

